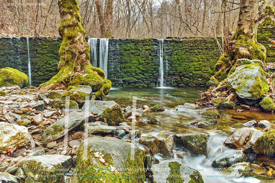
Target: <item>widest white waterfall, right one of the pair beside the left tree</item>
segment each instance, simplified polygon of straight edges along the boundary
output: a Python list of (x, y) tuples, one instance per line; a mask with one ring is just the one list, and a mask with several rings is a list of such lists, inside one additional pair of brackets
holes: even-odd
[(108, 43), (109, 43), (109, 39), (106, 39), (106, 38), (100, 39), (100, 46), (99, 46), (99, 68), (104, 71), (106, 79), (107, 79), (107, 76), (108, 76), (108, 70), (107, 70), (107, 63), (108, 63)]

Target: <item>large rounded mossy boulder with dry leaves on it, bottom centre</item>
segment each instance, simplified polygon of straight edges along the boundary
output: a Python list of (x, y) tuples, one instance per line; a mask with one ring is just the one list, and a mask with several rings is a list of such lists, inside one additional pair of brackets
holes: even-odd
[(76, 171), (72, 183), (144, 182), (145, 153), (137, 146), (131, 152), (131, 145), (113, 137), (91, 137), (84, 140), (76, 155)]

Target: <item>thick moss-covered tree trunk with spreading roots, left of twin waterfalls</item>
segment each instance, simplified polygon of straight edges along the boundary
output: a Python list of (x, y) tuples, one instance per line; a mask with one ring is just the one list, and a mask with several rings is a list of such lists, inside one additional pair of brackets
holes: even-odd
[(58, 6), (61, 18), (58, 32), (62, 37), (59, 72), (50, 81), (40, 85), (41, 91), (88, 85), (93, 92), (108, 94), (111, 82), (106, 80), (101, 69), (90, 63), (90, 47), (84, 37), (77, 0), (58, 0)]

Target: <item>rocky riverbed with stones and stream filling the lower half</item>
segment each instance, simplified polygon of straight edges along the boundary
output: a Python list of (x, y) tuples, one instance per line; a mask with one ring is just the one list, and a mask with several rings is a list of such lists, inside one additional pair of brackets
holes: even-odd
[(88, 101), (73, 93), (66, 103), (67, 90), (0, 88), (0, 179), (274, 181), (273, 114), (199, 108), (188, 90), (111, 90), (105, 101), (87, 86), (74, 90)]

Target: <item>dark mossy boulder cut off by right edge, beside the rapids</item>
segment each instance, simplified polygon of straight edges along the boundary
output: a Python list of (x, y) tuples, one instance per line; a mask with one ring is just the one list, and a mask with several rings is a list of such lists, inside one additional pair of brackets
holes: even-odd
[(253, 146), (253, 151), (256, 154), (273, 156), (275, 154), (275, 130), (267, 131), (259, 137)]

